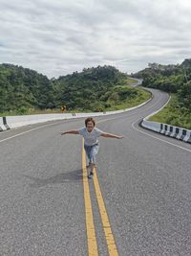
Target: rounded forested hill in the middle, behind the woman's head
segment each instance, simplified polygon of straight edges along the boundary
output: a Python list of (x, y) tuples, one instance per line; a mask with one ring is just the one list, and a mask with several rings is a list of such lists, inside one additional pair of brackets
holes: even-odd
[(53, 82), (56, 102), (67, 103), (72, 109), (77, 106), (82, 110), (103, 110), (110, 106), (106, 103), (109, 98), (117, 104), (115, 87), (122, 85), (125, 79), (127, 76), (112, 66), (83, 69), (83, 72), (74, 72)]

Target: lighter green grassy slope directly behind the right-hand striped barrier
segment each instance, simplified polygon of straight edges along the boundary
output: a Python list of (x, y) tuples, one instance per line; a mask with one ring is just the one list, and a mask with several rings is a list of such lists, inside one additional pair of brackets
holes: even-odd
[(170, 124), (175, 127), (191, 129), (191, 114), (185, 107), (180, 107), (176, 94), (171, 95), (171, 100), (159, 113), (149, 118), (150, 121)]

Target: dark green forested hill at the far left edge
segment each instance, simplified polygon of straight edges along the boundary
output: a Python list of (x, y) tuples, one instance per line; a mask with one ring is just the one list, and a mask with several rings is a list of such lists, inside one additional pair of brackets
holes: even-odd
[(0, 112), (53, 105), (53, 83), (28, 68), (0, 65)]

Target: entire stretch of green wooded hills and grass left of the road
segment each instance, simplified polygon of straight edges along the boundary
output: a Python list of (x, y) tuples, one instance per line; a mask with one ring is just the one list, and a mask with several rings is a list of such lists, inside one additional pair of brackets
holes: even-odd
[(0, 65), (1, 115), (107, 111), (138, 105), (150, 94), (112, 66), (98, 66), (49, 80), (31, 69)]

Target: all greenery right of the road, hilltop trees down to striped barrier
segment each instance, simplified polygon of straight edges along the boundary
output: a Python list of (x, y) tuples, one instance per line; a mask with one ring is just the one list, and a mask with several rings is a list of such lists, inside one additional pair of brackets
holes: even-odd
[(149, 64), (134, 74), (142, 78), (142, 85), (174, 93), (171, 102), (152, 120), (182, 128), (191, 128), (191, 59), (180, 65)]

